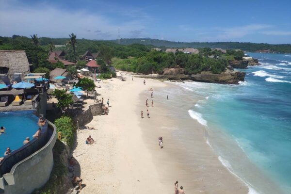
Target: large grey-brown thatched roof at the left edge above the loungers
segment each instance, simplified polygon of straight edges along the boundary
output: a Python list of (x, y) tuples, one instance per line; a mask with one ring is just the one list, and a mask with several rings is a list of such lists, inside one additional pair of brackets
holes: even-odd
[(29, 73), (29, 63), (24, 50), (0, 50), (0, 67), (8, 68), (8, 78), (14, 73), (21, 73), (21, 77)]

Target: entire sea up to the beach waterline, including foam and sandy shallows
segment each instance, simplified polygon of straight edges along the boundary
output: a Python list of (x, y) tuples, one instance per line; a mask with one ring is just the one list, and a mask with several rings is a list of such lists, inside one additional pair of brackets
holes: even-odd
[(290, 194), (291, 54), (247, 54), (262, 65), (240, 69), (239, 85), (176, 82), (179, 90), (160, 95), (187, 101), (183, 116), (206, 128), (207, 143), (249, 194)]

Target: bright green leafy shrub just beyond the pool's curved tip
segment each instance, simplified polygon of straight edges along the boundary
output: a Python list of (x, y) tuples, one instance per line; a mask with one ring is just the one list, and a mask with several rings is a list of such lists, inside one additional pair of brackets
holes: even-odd
[(62, 141), (68, 146), (72, 147), (75, 140), (75, 125), (71, 117), (62, 116), (55, 120), (54, 125), (57, 128), (57, 132), (61, 132)]

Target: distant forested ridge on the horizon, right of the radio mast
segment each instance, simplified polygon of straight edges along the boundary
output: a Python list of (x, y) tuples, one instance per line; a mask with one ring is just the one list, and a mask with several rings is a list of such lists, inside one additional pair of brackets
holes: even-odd
[[(118, 40), (112, 40), (114, 43), (118, 43)], [(291, 53), (291, 44), (271, 45), (266, 43), (240, 43), (240, 42), (172, 42), (167, 40), (151, 39), (151, 38), (122, 38), (120, 44), (143, 44), (153, 45), (155, 47), (165, 48), (221, 48), (221, 49), (242, 49), (246, 51), (254, 52), (256, 50), (270, 50), (280, 53)]]

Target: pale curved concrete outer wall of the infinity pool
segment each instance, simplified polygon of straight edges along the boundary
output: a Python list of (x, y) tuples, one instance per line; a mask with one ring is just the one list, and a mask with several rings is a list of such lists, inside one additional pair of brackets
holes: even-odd
[(26, 159), (16, 163), (10, 173), (0, 178), (0, 194), (30, 194), (48, 180), (53, 167), (52, 148), (56, 142), (56, 128), (49, 123), (52, 135), (48, 143)]

